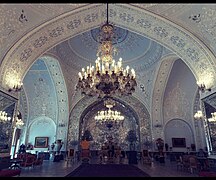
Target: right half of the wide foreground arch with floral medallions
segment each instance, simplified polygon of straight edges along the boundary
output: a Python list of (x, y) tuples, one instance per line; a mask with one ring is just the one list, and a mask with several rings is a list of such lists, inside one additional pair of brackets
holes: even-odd
[[(119, 6), (115, 6), (114, 9), (119, 8)], [(128, 12), (130, 10), (130, 7), (124, 7), (124, 11)], [(205, 75), (210, 79), (209, 82), (205, 81), (207, 86), (214, 85), (215, 69), (212, 67), (215, 64), (214, 57), (198, 39), (182, 27), (178, 27), (165, 19), (163, 21), (161, 17), (153, 17), (147, 12), (146, 14), (131, 14), (128, 12), (120, 13), (119, 16), (116, 15), (115, 23), (123, 27), (127, 24), (127, 28), (131, 30), (132, 27), (136, 27), (136, 32), (143, 35), (147, 34), (148, 37), (168, 47), (186, 62), (198, 81), (202, 80), (202, 76)], [(130, 24), (133, 24), (133, 26), (130, 26)]]

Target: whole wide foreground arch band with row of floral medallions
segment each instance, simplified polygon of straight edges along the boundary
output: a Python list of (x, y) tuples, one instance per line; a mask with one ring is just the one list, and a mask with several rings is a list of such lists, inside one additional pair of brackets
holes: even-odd
[[(101, 18), (104, 11), (104, 6), (91, 4), (35, 28), (18, 41), (5, 56), (0, 78), (2, 86), (7, 87), (10, 77), (22, 78), (32, 62), (49, 48), (80, 32), (99, 26), (104, 21)], [(110, 21), (168, 47), (186, 62), (198, 81), (202, 76), (211, 76), (206, 86), (214, 85), (213, 55), (182, 27), (128, 4), (111, 4)]]

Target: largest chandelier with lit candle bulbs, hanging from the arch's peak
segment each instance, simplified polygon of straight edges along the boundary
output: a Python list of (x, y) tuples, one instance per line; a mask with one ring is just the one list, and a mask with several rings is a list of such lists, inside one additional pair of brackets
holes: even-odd
[(135, 70), (122, 66), (122, 58), (116, 62), (113, 55), (117, 49), (113, 47), (116, 39), (114, 26), (107, 21), (101, 27), (98, 37), (100, 45), (98, 47), (95, 66), (87, 66), (79, 72), (79, 81), (76, 88), (81, 90), (81, 94), (89, 96), (104, 97), (106, 95), (131, 95), (135, 91), (136, 75)]

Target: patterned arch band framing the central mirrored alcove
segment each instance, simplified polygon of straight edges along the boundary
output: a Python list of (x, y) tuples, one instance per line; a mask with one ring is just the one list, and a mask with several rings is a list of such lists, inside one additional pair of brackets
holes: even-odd
[[(116, 98), (119, 99), (119, 97)], [(81, 120), (81, 115), (83, 111), (95, 101), (97, 101), (96, 97), (84, 97), (72, 109), (68, 123), (68, 145), (71, 141), (79, 139), (79, 124)], [(134, 112), (137, 114), (140, 125), (140, 141), (142, 144), (144, 142), (145, 136), (151, 138), (150, 115), (147, 109), (143, 106), (143, 104), (132, 96), (121, 97), (121, 101), (130, 106), (131, 109), (133, 109)]]

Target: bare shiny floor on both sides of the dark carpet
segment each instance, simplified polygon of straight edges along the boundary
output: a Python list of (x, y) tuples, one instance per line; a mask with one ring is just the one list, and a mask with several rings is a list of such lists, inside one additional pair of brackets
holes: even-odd
[[(97, 159), (92, 159), (90, 163), (99, 163), (99, 161)], [(128, 163), (127, 159), (125, 159), (124, 163)], [(64, 177), (80, 164), (81, 161), (71, 162), (61, 160), (60, 162), (53, 162), (52, 160), (44, 160), (42, 166), (22, 168), (20, 177)], [(134, 166), (142, 169), (151, 177), (198, 177), (196, 172), (190, 173), (189, 171), (177, 170), (176, 162), (170, 162), (168, 159), (165, 161), (165, 164), (153, 161), (150, 166), (138, 161), (138, 164)]]

